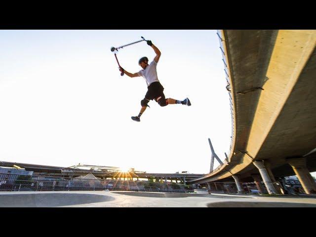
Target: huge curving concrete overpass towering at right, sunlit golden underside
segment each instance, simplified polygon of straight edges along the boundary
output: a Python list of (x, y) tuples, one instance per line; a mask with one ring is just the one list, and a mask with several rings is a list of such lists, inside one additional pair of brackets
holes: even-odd
[(296, 174), (316, 193), (316, 30), (223, 30), (233, 135), (223, 165), (190, 183), (264, 181)]

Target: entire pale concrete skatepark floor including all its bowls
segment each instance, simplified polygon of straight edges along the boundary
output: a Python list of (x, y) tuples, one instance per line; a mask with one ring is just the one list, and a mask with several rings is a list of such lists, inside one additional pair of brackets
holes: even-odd
[(0, 207), (316, 207), (316, 198), (123, 191), (23, 191), (1, 192)]

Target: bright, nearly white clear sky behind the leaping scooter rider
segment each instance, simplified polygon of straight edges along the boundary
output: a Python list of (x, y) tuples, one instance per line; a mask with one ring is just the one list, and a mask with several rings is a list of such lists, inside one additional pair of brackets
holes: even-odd
[[(166, 97), (141, 122), (143, 78), (120, 76), (110, 48), (141, 40), (160, 49)], [(138, 72), (154, 50), (140, 42), (118, 52)], [(229, 152), (231, 118), (219, 41), (213, 30), (1, 30), (0, 160), (71, 166), (128, 166), (147, 172), (208, 173)], [(215, 167), (218, 163), (215, 163)]]

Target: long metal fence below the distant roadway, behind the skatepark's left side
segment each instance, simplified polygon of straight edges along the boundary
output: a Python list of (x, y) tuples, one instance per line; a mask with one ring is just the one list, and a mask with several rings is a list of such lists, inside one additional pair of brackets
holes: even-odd
[(140, 191), (192, 193), (195, 185), (0, 173), (0, 191)]

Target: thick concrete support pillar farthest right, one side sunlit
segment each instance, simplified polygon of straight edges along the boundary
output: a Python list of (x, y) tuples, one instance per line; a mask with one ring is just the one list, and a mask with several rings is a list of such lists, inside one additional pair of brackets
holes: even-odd
[(306, 158), (287, 159), (306, 194), (316, 194), (316, 183), (306, 166)]

